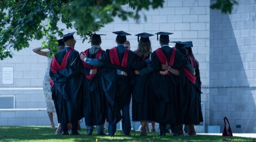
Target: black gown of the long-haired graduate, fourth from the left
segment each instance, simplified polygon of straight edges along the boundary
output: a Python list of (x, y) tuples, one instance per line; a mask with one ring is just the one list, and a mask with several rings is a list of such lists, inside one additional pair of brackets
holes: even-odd
[[(138, 61), (143, 61), (148, 57), (137, 56)], [(154, 120), (155, 98), (152, 93), (151, 74), (144, 76), (135, 75), (132, 93), (132, 119), (133, 121)]]

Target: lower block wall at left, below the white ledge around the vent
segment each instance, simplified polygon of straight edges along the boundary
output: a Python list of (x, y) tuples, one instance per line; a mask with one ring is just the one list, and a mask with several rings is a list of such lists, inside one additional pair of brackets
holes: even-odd
[[(0, 111), (0, 126), (50, 126), (46, 110), (26, 110), (26, 108), (46, 108), (42, 88), (1, 90), (2, 95), (15, 95), (15, 108), (23, 110)], [(53, 116), (57, 126), (57, 115)]]

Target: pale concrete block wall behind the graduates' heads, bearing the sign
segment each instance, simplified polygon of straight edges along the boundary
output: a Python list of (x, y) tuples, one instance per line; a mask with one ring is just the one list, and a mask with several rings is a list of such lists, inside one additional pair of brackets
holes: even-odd
[[(108, 49), (116, 45), (113, 31), (126, 31), (131, 34), (127, 36), (127, 40), (131, 43), (131, 50), (137, 49), (138, 41), (135, 34), (141, 32), (148, 32), (155, 34), (159, 31), (174, 32), (170, 35), (171, 41), (193, 41), (193, 53), (200, 63), (201, 81), (203, 85), (202, 101), (205, 102), (206, 110), (209, 109), (209, 5), (210, 0), (167, 0), (164, 2), (163, 8), (156, 10), (143, 10), (141, 14), (140, 23), (135, 22), (134, 19), (129, 18), (128, 21), (123, 21), (115, 18), (114, 22), (106, 24), (104, 28), (98, 31), (99, 34), (106, 34), (101, 36), (102, 48)], [(125, 8), (127, 6), (124, 6)], [(146, 17), (144, 20), (143, 17)], [(64, 24), (59, 23), (59, 27), (65, 28)], [(73, 29), (64, 31), (64, 34), (73, 32)], [(90, 47), (88, 41), (82, 43), (80, 36), (75, 34), (77, 40), (75, 49), (79, 52), (84, 51)], [(150, 37), (152, 50), (159, 48), (159, 41), (156, 40), (156, 35)], [(2, 85), (2, 87), (42, 87), (43, 75), (46, 71), (47, 58), (36, 55), (32, 52), (33, 48), (40, 47), (42, 40), (31, 41), (30, 47), (22, 49), (22, 51), (14, 51), (13, 59), (5, 59), (0, 61), (0, 74), (2, 74), (3, 66), (14, 67), (14, 85)], [(174, 44), (170, 44), (174, 46)], [(31, 75), (28, 75), (31, 74)], [(2, 76), (0, 76), (2, 80)], [(16, 93), (9, 93), (14, 94)], [(40, 95), (39, 95), (40, 94)], [(18, 94), (21, 96), (22, 94)], [(43, 93), (37, 95), (42, 101)], [(41, 96), (41, 97), (40, 97)], [(22, 99), (27, 99), (29, 102), (26, 108), (37, 107), (37, 101), (31, 100), (31, 95), (23, 94)], [(16, 99), (18, 101), (18, 98)], [(17, 102), (19, 107), (24, 107), (23, 103)], [(43, 107), (43, 106), (42, 106)], [(44, 107), (45, 108), (45, 107)], [(209, 112), (206, 111), (205, 122), (209, 122)], [(47, 123), (48, 124), (48, 123)]]

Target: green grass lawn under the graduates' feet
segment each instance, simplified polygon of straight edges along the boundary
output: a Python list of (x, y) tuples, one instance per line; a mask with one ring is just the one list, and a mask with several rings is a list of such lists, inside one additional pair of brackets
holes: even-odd
[[(118, 130), (114, 137), (97, 136), (94, 130), (92, 136), (87, 136), (85, 129), (80, 131), (81, 135), (62, 136), (55, 135), (56, 129), (50, 127), (7, 127), (0, 126), (0, 141), (253, 141), (256, 139), (245, 137), (222, 137), (211, 135), (197, 136), (171, 136), (167, 133), (165, 137), (157, 136), (158, 133), (150, 132), (148, 136), (139, 136), (139, 131), (131, 132), (131, 136), (124, 136), (122, 131)], [(105, 130), (105, 132), (107, 132)]]

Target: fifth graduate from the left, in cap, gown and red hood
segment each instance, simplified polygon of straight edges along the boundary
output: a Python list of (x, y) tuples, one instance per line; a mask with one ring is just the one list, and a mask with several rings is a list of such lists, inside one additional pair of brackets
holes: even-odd
[[(152, 72), (151, 82), (155, 94), (156, 109), (155, 121), (159, 123), (159, 136), (166, 135), (166, 125), (176, 126), (172, 132), (177, 135), (177, 125), (183, 122), (182, 107), (185, 97), (180, 93), (180, 80), (184, 78), (184, 74), (176, 76), (173, 73), (167, 75), (160, 74), (162, 64), (168, 63), (171, 68), (181, 70), (182, 67), (193, 72), (191, 65), (187, 59), (175, 48), (169, 47), (169, 36), (172, 33), (158, 32), (160, 35), (159, 43), (161, 48), (156, 49), (152, 53), (151, 64), (142, 70), (139, 70), (140, 76)], [(171, 69), (170, 68), (170, 69)]]

